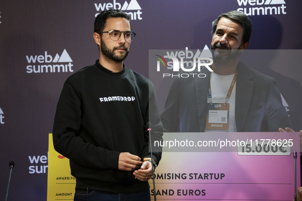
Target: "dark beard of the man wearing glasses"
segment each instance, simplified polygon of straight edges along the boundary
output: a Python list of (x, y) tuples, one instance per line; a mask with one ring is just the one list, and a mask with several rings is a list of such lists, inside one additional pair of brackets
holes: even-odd
[[(120, 52), (118, 54), (115, 54), (114, 51), (118, 48), (124, 48), (125, 53)], [(101, 52), (103, 53), (105, 60), (109, 63), (121, 63), (126, 59), (129, 53), (129, 49), (125, 47), (125, 45), (120, 45), (113, 47), (112, 49), (109, 49), (103, 39), (101, 38)]]

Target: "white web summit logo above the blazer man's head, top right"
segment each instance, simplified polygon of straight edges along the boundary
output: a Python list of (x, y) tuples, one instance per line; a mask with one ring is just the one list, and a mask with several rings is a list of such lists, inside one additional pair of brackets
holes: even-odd
[[(246, 15), (273, 15), (273, 14), (285, 15), (286, 14), (285, 11), (286, 3), (284, 0), (237, 0), (237, 2), (239, 6), (248, 6), (248, 8), (237, 9), (238, 11), (241, 11)], [(249, 6), (257, 6), (257, 7), (249, 7)], [(262, 6), (262, 7), (258, 7), (258, 6)]]

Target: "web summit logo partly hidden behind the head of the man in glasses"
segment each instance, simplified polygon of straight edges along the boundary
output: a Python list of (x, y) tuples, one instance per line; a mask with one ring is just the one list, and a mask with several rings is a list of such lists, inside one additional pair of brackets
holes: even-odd
[[(95, 4), (95, 7), (97, 9), (97, 11), (99, 13), (96, 13), (95, 17), (97, 17), (98, 14), (100, 14), (100, 12), (106, 10), (109, 10), (111, 8), (113, 9), (120, 9), (122, 11), (124, 11), (125, 13), (127, 13), (128, 15), (130, 15), (131, 20), (136, 20), (136, 19), (143, 19), (142, 18), (142, 8), (141, 6), (137, 3), (136, 0), (131, 0), (131, 2), (128, 4), (127, 1), (125, 1), (125, 3), (123, 4), (123, 6), (120, 3), (117, 3), (116, 0), (113, 0), (113, 4), (112, 3), (100, 3), (100, 4)], [(128, 12), (130, 10), (137, 10), (136, 12)]]

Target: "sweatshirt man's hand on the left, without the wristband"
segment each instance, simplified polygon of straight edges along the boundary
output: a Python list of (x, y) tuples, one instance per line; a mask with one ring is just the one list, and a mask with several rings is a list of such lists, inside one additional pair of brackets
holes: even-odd
[(140, 168), (142, 165), (141, 158), (128, 152), (122, 152), (119, 156), (119, 170), (132, 171)]

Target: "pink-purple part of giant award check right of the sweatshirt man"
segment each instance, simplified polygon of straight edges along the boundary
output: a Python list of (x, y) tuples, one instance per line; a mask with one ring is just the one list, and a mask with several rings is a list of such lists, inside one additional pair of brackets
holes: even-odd
[[(295, 159), (291, 151), (294, 150), (293, 144), (299, 143), (298, 133), (290, 136), (278, 133), (254, 133), (254, 135), (224, 133), (217, 134), (215, 137), (213, 135), (215, 134), (164, 134), (162, 143), (165, 145), (164, 152), (155, 171), (156, 199), (292, 200), (294, 198)], [(247, 136), (253, 138), (247, 139)], [(284, 139), (287, 139), (287, 143)], [(293, 144), (288, 143), (288, 140)], [(284, 143), (277, 143), (277, 141)], [(202, 145), (210, 146), (209, 142), (212, 142), (213, 146), (218, 143), (216, 148), (210, 149), (215, 152), (206, 152), (206, 149), (204, 152), (197, 152)], [(229, 147), (226, 147), (225, 143)], [(221, 145), (224, 145), (221, 147), (224, 152), (219, 152)], [(237, 150), (231, 150), (232, 147)], [(175, 152), (177, 148), (185, 152)], [(189, 150), (194, 152), (188, 152)], [(300, 155), (299, 153), (297, 155), (296, 178), (299, 187)], [(152, 180), (149, 180), (149, 183), (151, 195), (154, 195)]]

